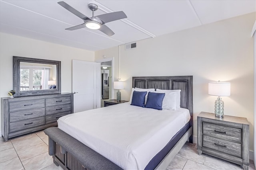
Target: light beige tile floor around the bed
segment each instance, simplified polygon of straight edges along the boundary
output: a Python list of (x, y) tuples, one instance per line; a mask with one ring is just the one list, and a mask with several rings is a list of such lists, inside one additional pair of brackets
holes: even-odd
[[(241, 170), (241, 166), (206, 154), (197, 154), (197, 145), (186, 143), (167, 170)], [(8, 142), (0, 138), (1, 170), (62, 170), (48, 154), (48, 136), (43, 131), (16, 137)], [(255, 170), (250, 160), (249, 170)]]

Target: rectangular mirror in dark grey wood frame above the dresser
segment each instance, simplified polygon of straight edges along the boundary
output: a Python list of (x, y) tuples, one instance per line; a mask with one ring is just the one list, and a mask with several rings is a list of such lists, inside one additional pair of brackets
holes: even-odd
[(13, 56), (14, 96), (60, 93), (60, 61)]

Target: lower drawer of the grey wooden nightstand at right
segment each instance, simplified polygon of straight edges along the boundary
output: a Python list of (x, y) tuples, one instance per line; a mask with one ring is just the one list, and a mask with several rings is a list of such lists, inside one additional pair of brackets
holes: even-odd
[(241, 144), (203, 135), (203, 147), (241, 158)]

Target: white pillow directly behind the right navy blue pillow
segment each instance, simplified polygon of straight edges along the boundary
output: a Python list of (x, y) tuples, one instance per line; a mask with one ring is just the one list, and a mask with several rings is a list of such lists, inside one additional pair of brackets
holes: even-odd
[(162, 103), (163, 109), (168, 110), (176, 110), (176, 96), (177, 92), (159, 92), (155, 91), (155, 93), (165, 93), (164, 100)]

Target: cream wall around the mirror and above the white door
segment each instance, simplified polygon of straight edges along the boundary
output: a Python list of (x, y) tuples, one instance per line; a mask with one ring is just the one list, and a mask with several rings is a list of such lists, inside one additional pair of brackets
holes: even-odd
[(62, 92), (72, 92), (72, 59), (94, 61), (93, 51), (0, 33), (0, 97), (12, 90), (12, 56), (61, 61)]

